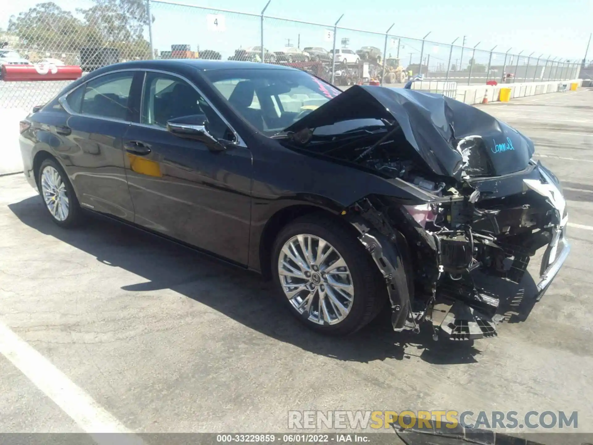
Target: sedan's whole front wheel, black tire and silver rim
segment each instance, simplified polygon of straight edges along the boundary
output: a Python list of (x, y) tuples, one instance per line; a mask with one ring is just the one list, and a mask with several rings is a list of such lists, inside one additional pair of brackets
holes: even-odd
[(309, 328), (347, 335), (377, 316), (387, 288), (361, 242), (323, 214), (298, 218), (272, 249), (278, 295)]

